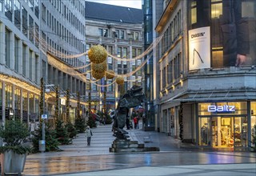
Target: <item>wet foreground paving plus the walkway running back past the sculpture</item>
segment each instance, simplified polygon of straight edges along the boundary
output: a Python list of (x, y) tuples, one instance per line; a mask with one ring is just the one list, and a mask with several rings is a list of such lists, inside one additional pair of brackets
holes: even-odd
[(78, 134), (77, 138), (74, 138), (73, 144), (60, 146), (63, 150), (61, 152), (28, 155), (25, 170), (22, 174), (32, 176), (81, 173), (82, 175), (82, 172), (88, 171), (121, 170), (143, 166), (256, 162), (256, 153), (198, 150), (191, 146), (180, 147), (177, 139), (166, 134), (143, 130), (129, 130), (130, 140), (142, 143), (143, 138), (150, 135), (152, 141), (145, 143), (146, 146), (157, 146), (160, 148), (160, 152), (114, 154), (109, 151), (109, 147), (114, 141), (111, 125), (98, 126), (92, 130), (94, 136), (92, 137), (91, 146), (86, 146), (85, 134)]

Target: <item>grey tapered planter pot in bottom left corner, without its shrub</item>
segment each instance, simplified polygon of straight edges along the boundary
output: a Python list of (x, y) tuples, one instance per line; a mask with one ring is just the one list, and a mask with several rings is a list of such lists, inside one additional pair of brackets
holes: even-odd
[(1, 154), (2, 175), (18, 174), (21, 175), (26, 162), (26, 154), (16, 154), (12, 150)]

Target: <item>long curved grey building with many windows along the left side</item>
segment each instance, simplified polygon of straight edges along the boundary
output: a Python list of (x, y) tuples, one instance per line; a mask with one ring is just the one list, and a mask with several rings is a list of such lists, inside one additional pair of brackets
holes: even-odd
[[(70, 94), (85, 94), (86, 82), (78, 75), (86, 70), (74, 70), (85, 65), (85, 56), (67, 57), (86, 50), (84, 1), (0, 1), (0, 41), (1, 122), (38, 122), (41, 78), (46, 85), (59, 86), (61, 94), (68, 88)], [(74, 121), (77, 101), (71, 99)], [(60, 115), (65, 113), (61, 102)], [(54, 96), (47, 93), (49, 117), (54, 105)]]

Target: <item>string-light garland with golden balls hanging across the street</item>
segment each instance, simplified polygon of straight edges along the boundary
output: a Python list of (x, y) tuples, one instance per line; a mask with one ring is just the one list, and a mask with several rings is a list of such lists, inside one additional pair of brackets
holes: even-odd
[[(30, 29), (30, 30), (34, 30)], [(89, 65), (85, 65), (85, 66), (79, 66), (79, 67), (69, 67), (67, 68), (66, 66), (62, 66), (62, 68), (64, 68), (63, 70), (65, 70), (66, 74), (70, 74), (70, 75), (74, 75), (74, 76), (78, 76), (80, 78), (82, 78), (81, 76), (83, 76), (84, 74), (88, 74), (88, 72), (86, 73), (79, 73), (77, 70), (82, 69), (82, 68), (86, 68), (87, 66), (91, 66), (91, 75), (93, 78), (96, 79), (96, 81), (92, 81), (92, 80), (88, 80), (86, 78), (82, 78), (82, 80), (84, 80), (85, 82), (91, 82), (96, 84), (95, 82), (98, 82), (98, 79), (103, 78), (104, 76), (106, 76), (107, 79), (113, 79), (115, 76), (118, 76), (115, 80), (115, 82), (117, 82), (118, 84), (123, 84), (124, 83), (124, 78), (126, 77), (130, 77), (133, 74), (135, 74), (138, 70), (142, 69), (142, 66), (145, 66), (146, 62), (148, 62), (148, 60), (151, 58), (153, 52), (151, 52), (157, 45), (159, 42), (161, 42), (163, 35), (156, 38), (154, 40), (154, 42), (151, 43), (151, 45), (140, 55), (138, 55), (135, 58), (129, 58), (129, 59), (123, 59), (123, 58), (118, 58), (115, 57), (112, 54), (107, 53), (106, 49), (103, 46), (97, 45), (97, 46), (92, 46), (90, 47), (90, 50), (82, 53), (82, 54), (63, 54), (62, 52), (55, 50), (53, 47), (51, 47), (43, 38), (39, 38), (39, 34), (36, 34), (36, 32), (34, 32), (34, 38), (35, 40), (37, 40), (38, 42), (40, 42), (40, 50), (42, 50), (42, 52), (44, 54), (46, 54), (46, 52), (50, 52), (50, 54), (54, 54), (56, 56), (58, 56), (59, 58), (78, 58), (84, 55), (88, 55), (88, 58), (90, 59), (90, 64)], [(151, 53), (150, 53), (151, 52)], [(46, 54), (47, 55), (47, 54)], [(138, 66), (134, 71), (127, 73), (127, 74), (118, 74), (116, 75), (114, 73), (114, 70), (106, 70), (107, 68), (107, 63), (106, 63), (106, 58), (107, 56), (110, 56), (111, 58), (114, 58), (118, 61), (123, 61), (123, 62), (130, 62), (130, 61), (134, 61), (143, 57), (146, 57), (146, 59), (142, 62), (142, 64), (140, 66)], [(53, 62), (51, 62), (51, 64), (53, 64)], [(53, 64), (54, 66), (57, 66), (57, 64)], [(59, 66), (57, 66), (58, 68)], [(100, 86), (100, 85), (97, 85)], [(106, 86), (106, 85), (105, 85)]]

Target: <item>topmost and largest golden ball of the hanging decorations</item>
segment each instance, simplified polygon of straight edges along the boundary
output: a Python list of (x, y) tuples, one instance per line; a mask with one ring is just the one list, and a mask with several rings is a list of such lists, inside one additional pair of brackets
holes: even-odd
[(92, 46), (88, 51), (88, 57), (90, 59), (90, 62), (102, 63), (106, 61), (107, 52), (103, 46)]

